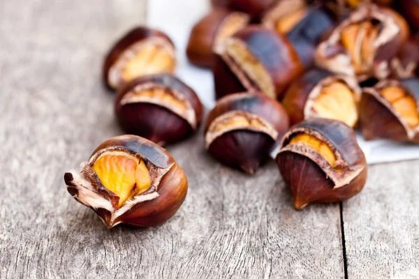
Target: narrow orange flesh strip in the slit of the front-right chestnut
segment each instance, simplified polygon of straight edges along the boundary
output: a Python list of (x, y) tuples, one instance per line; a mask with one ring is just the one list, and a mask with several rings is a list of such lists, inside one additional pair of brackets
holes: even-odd
[(312, 149), (319, 153), (325, 160), (328, 161), (331, 167), (335, 166), (336, 156), (333, 153), (332, 149), (325, 144), (325, 142), (319, 140), (317, 137), (313, 135), (309, 135), (306, 133), (298, 133), (297, 135), (293, 136), (288, 144), (302, 144), (307, 146), (309, 149)]

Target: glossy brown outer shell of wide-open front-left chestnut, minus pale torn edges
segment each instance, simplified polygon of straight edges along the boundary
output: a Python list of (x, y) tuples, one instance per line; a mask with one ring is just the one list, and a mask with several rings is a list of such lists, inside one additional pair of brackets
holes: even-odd
[[(161, 146), (143, 139), (142, 137), (122, 135), (119, 137), (112, 137), (103, 142), (98, 146), (94, 153), (92, 153), (91, 158), (104, 149), (125, 151), (131, 153), (133, 156), (140, 156), (154, 165), (156, 169), (166, 169), (164, 170), (165, 173), (163, 174), (163, 177), (161, 177), (159, 185), (156, 188), (152, 187), (152, 189), (146, 192), (150, 193), (154, 191), (158, 194), (157, 197), (133, 205), (131, 209), (113, 220), (110, 211), (102, 208), (94, 209), (91, 206), (84, 204), (91, 207), (108, 227), (113, 227), (119, 223), (136, 227), (159, 225), (166, 222), (166, 220), (176, 213), (186, 197), (188, 182), (184, 171), (177, 165), (166, 149), (163, 149)], [(73, 197), (80, 202), (78, 199), (78, 190), (74, 185), (73, 179), (74, 177), (71, 172), (67, 172), (64, 176), (64, 180), (68, 186), (68, 193), (73, 195)], [(99, 180), (98, 183), (101, 185)], [(94, 185), (94, 183), (92, 183), (92, 185)], [(106, 197), (106, 195), (102, 195)]]

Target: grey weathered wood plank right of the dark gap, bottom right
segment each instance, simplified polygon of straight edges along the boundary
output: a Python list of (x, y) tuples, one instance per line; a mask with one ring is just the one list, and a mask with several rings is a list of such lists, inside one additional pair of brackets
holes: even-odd
[(344, 203), (348, 278), (419, 278), (419, 161), (376, 165)]

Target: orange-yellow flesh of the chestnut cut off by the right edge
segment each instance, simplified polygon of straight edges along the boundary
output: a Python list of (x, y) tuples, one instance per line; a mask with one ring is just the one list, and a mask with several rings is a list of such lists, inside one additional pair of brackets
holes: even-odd
[(388, 100), (392, 107), (399, 112), (411, 128), (419, 125), (418, 106), (413, 97), (397, 86), (388, 86), (381, 89), (381, 95)]

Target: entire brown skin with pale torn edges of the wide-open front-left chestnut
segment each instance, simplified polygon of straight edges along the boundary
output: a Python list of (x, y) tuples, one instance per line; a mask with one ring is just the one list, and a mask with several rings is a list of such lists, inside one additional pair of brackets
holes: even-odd
[[(142, 160), (152, 178), (151, 187), (117, 206), (115, 199), (119, 197), (103, 185), (93, 170), (103, 154), (126, 154)], [(135, 135), (106, 140), (92, 153), (89, 161), (82, 164), (80, 174), (66, 172), (64, 181), (68, 193), (95, 211), (109, 228), (120, 223), (135, 227), (160, 225), (175, 215), (188, 190), (186, 175), (170, 153)]]

